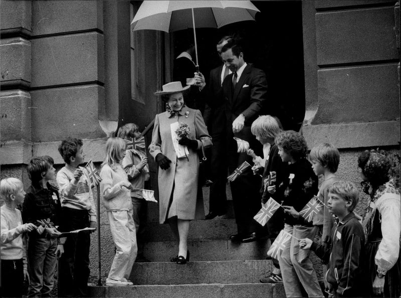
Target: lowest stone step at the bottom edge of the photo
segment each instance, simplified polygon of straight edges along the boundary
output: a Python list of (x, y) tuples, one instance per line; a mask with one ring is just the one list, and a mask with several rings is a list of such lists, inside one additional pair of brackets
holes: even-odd
[(90, 297), (285, 297), (283, 283), (89, 286)]

